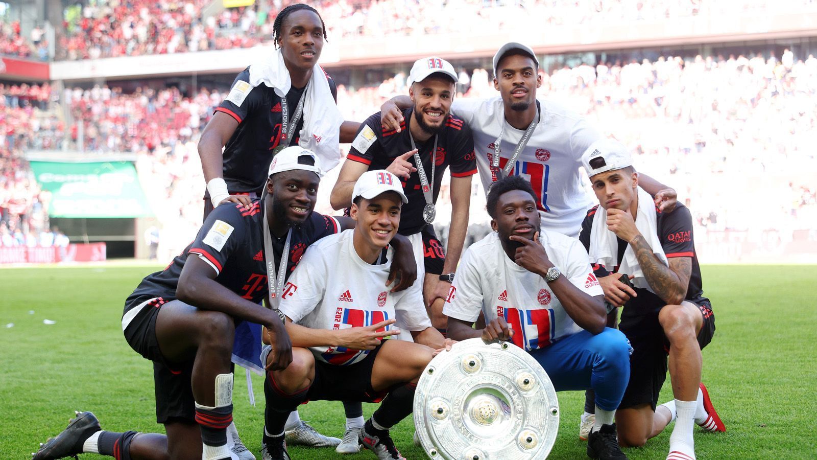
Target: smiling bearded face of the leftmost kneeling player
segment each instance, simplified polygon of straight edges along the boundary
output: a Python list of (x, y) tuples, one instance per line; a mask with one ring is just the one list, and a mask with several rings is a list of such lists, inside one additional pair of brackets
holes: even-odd
[(267, 192), (272, 195), (275, 219), (292, 227), (304, 223), (315, 207), (319, 182), (318, 174), (301, 169), (273, 174)]

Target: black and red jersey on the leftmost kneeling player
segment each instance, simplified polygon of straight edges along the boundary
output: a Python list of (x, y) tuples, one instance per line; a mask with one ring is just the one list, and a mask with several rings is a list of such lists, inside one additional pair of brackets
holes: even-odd
[[(125, 312), (145, 300), (162, 297), (176, 299), (176, 286), (181, 269), (190, 255), (198, 256), (216, 271), (216, 281), (244, 299), (258, 303), (267, 295), (266, 264), (264, 259), (263, 204), (253, 201), (245, 210), (243, 205), (221, 205), (208, 215), (196, 239), (177, 255), (161, 272), (151, 273), (125, 301)], [(337, 220), (313, 212), (306, 222), (292, 228), (289, 243), (287, 277), (301, 260), (306, 246), (340, 232)], [(280, 264), (287, 236), (272, 236), (275, 266)]]

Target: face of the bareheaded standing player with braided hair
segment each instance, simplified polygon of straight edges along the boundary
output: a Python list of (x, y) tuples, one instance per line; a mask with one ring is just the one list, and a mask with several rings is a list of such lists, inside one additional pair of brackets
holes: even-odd
[(283, 52), (283, 61), (295, 69), (307, 71), (318, 63), (324, 49), (324, 26), (315, 11), (292, 11), (281, 26), (278, 46)]

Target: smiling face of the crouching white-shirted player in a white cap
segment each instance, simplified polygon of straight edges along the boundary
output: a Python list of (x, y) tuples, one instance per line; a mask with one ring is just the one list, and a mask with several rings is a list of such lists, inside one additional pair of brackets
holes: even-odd
[(352, 203), (349, 215), (355, 219), (355, 238), (373, 250), (389, 244), (400, 227), (403, 199), (396, 192), (384, 192), (371, 200)]

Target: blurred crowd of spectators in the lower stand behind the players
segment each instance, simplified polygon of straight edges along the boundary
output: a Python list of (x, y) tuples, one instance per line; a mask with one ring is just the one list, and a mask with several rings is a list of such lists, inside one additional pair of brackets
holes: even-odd
[[(817, 58), (803, 57), (786, 50), (779, 58), (670, 56), (577, 65), (542, 72), (539, 94), (627, 144), (636, 152), (637, 169), (676, 187), (700, 229), (809, 228), (817, 221), (817, 159), (810, 148), (817, 145)], [(488, 71), (459, 71), (458, 97), (496, 94)], [(96, 86), (49, 95), (43, 87), (0, 87), (0, 124), (7, 127), (0, 150), (3, 219), (47, 207), (20, 149), (67, 142), (70, 149), (132, 151), (160, 222), (189, 229), (177, 241), (184, 246), (203, 206), (196, 142), (226, 89), (185, 95), (176, 88), (138, 88), (126, 94)], [(339, 84), (337, 101), (346, 120), (364, 120), (386, 98), (407, 91), (399, 73), (364, 88)], [(53, 109), (40, 110), (41, 101), (67, 107), (69, 124), (48, 115)], [(324, 179), (321, 192), (331, 190), (333, 177)], [(471, 219), (487, 219), (477, 184), (472, 200)], [(319, 201), (328, 205), (324, 196)], [(757, 219), (759, 212), (763, 219)], [(438, 215), (444, 219), (447, 213)], [(174, 243), (163, 235), (163, 244)]]

